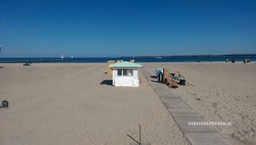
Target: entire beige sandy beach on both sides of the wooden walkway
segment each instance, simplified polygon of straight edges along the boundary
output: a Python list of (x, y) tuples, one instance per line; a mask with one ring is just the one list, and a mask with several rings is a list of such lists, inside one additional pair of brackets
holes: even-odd
[[(233, 144), (256, 144), (256, 63), (142, 63), (180, 71), (187, 85), (170, 89)], [(188, 144), (150, 84), (113, 87), (105, 63), (0, 64), (0, 141), (10, 144)], [(166, 87), (163, 84), (163, 87)]]

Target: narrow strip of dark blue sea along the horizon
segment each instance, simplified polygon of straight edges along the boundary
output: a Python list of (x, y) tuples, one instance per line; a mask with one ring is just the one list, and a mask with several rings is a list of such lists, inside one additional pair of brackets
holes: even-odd
[(122, 56), (122, 57), (28, 57), (1, 58), (0, 63), (47, 62), (47, 63), (102, 63), (107, 61), (136, 62), (201, 62), (201, 61), (256, 61), (256, 55), (177, 55), (177, 56)]

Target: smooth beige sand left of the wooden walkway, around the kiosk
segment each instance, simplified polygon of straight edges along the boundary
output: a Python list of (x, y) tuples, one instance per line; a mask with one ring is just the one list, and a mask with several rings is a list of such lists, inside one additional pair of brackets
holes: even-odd
[(105, 72), (105, 63), (0, 64), (0, 101), (9, 101), (1, 144), (128, 145), (139, 122), (143, 142), (187, 144), (145, 78), (139, 88), (113, 87)]

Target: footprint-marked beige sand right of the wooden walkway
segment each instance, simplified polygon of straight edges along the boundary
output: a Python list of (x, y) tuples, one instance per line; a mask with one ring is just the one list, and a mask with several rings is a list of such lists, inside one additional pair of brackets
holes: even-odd
[(144, 63), (181, 72), (187, 85), (172, 89), (208, 121), (232, 122), (215, 126), (233, 144), (256, 144), (256, 63)]

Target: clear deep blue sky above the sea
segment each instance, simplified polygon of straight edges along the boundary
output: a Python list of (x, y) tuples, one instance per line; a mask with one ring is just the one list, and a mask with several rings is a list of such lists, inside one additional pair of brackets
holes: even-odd
[(0, 0), (0, 57), (256, 54), (255, 0)]

